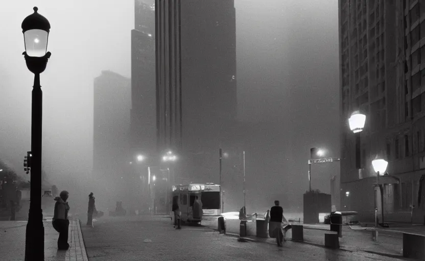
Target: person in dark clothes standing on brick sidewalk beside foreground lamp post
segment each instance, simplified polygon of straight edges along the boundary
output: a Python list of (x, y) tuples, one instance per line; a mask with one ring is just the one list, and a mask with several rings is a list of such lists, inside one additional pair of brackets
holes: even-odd
[(59, 232), (58, 239), (58, 249), (59, 250), (67, 250), (69, 248), (68, 244), (68, 212), (69, 205), (66, 200), (68, 199), (69, 193), (67, 191), (62, 191), (59, 194), (59, 197), (55, 198), (55, 210), (53, 217), (53, 228)]

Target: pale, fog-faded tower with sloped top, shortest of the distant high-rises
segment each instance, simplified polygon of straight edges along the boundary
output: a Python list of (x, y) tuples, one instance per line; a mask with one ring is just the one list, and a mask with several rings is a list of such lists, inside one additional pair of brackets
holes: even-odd
[[(93, 178), (103, 189), (125, 172), (130, 134), (130, 79), (102, 71), (94, 81)], [(101, 188), (99, 188), (101, 189)]]

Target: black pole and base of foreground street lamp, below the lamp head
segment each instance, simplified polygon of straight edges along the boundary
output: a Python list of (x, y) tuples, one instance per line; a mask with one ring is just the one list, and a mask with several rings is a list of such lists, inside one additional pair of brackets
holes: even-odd
[(31, 191), (25, 239), (25, 261), (44, 260), (44, 226), (41, 210), (41, 140), (43, 92), (40, 74), (34, 74), (31, 113)]

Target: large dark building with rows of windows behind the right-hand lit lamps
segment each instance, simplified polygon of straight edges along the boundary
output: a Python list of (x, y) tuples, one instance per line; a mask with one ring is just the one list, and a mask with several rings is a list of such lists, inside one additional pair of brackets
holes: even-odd
[[(389, 163), (380, 179), (386, 220), (410, 222), (415, 206), (423, 223), (425, 1), (340, 0), (339, 12), (341, 208), (369, 220), (381, 212), (371, 166), (380, 154)], [(359, 144), (347, 124), (356, 110), (367, 117)]]

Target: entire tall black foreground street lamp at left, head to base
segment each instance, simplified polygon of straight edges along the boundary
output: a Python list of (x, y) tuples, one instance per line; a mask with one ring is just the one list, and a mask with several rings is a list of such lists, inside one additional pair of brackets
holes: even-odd
[(22, 33), (25, 43), (25, 58), (28, 69), (34, 73), (34, 86), (32, 91), (31, 115), (31, 151), (33, 154), (31, 168), (31, 195), (30, 211), (26, 230), (25, 260), (44, 260), (44, 227), (41, 210), (41, 141), (42, 141), (42, 96), (40, 86), (40, 73), (42, 73), (51, 56), (46, 53), (50, 23), (48, 19), (34, 13), (22, 21)]

